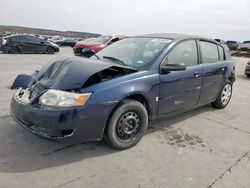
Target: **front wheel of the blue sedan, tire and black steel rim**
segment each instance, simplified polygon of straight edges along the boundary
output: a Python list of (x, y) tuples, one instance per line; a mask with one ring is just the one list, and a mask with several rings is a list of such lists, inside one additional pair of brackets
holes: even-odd
[(115, 149), (135, 146), (148, 128), (148, 113), (136, 100), (124, 100), (111, 114), (104, 140)]

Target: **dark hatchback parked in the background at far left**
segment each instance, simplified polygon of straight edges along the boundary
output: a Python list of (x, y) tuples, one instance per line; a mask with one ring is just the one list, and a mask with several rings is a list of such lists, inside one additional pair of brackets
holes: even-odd
[(1, 40), (3, 53), (49, 53), (59, 52), (58, 45), (33, 35), (11, 35)]

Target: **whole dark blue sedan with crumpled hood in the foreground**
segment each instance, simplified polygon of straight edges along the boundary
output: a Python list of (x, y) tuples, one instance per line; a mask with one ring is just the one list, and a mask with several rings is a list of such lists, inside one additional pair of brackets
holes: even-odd
[(136, 145), (155, 118), (232, 96), (235, 63), (214, 40), (179, 34), (125, 38), (90, 59), (64, 58), (20, 76), (11, 115), (30, 132), (67, 141)]

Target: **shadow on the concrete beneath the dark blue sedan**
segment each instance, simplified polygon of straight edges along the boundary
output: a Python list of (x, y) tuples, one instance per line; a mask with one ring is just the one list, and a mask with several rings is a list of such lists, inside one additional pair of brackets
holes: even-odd
[[(154, 120), (147, 134), (212, 110), (207, 105), (177, 116)], [(25, 131), (9, 116), (2, 117), (0, 124), (0, 172), (31, 172), (119, 152), (103, 141), (63, 144), (42, 139)]]

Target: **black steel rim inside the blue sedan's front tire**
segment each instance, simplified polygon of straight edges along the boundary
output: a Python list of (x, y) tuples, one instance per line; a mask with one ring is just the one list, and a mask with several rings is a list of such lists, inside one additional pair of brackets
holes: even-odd
[(122, 140), (135, 137), (140, 130), (141, 120), (137, 112), (124, 113), (116, 125), (117, 136)]

